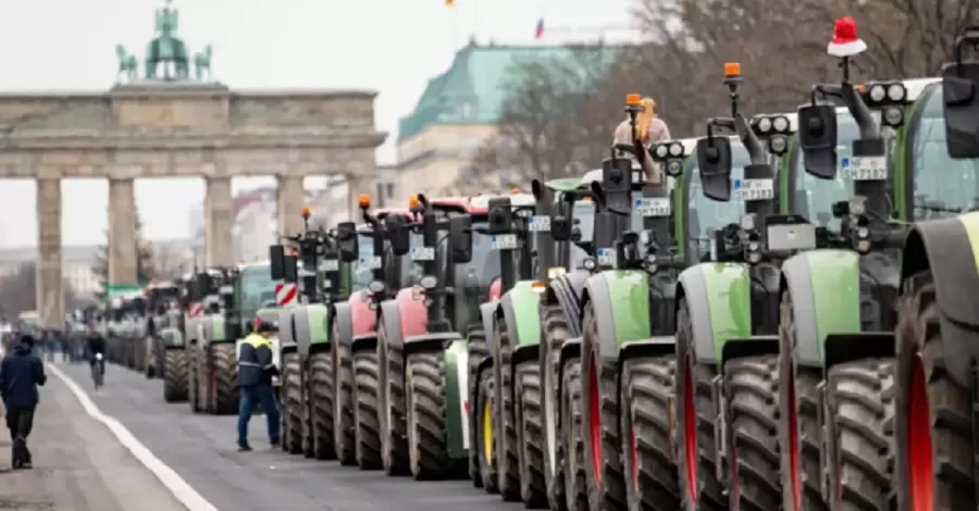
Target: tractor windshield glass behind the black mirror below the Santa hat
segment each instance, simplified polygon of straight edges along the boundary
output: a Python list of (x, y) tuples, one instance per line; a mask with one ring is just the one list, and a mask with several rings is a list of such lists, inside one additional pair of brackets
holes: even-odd
[(820, 179), (806, 172), (803, 151), (798, 144), (792, 149), (789, 175), (795, 176), (793, 183), (793, 212), (805, 216), (809, 222), (832, 230), (840, 228), (840, 219), (833, 217), (833, 203), (847, 200), (853, 196), (853, 182), (846, 172), (847, 162), (853, 151), (853, 141), (860, 136), (859, 127), (853, 115), (845, 110), (837, 114), (837, 177)]

